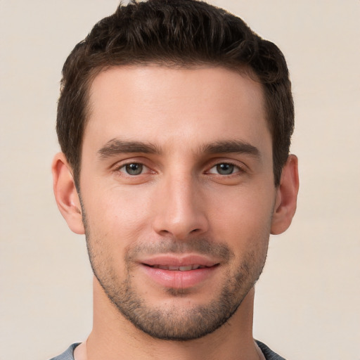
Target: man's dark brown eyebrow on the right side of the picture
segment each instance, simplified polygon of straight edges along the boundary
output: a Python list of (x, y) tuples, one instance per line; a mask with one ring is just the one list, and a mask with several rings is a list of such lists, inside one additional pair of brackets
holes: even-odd
[(207, 154), (236, 153), (248, 154), (255, 158), (260, 158), (260, 151), (258, 148), (252, 146), (250, 143), (239, 140), (225, 140), (209, 143), (203, 146), (202, 150)]

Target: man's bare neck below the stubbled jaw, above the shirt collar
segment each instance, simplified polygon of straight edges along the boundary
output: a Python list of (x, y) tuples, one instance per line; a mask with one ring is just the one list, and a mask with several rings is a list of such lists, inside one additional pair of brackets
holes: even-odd
[(259, 359), (252, 338), (253, 304), (251, 289), (231, 319), (213, 333), (185, 342), (159, 340), (124, 319), (94, 280), (94, 326), (79, 353), (86, 350), (86, 360), (162, 360), (169, 355), (174, 360)]

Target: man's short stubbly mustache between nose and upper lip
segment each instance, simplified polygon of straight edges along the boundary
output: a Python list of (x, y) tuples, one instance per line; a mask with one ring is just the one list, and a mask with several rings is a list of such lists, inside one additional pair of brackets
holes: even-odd
[(126, 260), (131, 262), (139, 255), (186, 254), (193, 253), (208, 255), (228, 262), (234, 257), (233, 251), (224, 243), (214, 243), (207, 238), (191, 240), (176, 240), (173, 238), (161, 239), (152, 243), (137, 243), (127, 248)]

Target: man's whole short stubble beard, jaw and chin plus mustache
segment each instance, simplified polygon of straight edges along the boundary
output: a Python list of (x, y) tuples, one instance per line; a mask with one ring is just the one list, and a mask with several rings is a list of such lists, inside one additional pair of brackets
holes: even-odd
[[(126, 256), (127, 275), (124, 281), (120, 281), (115, 269), (109, 265), (115, 264), (110, 251), (105, 251), (101, 239), (91, 238), (85, 217), (84, 225), (91, 268), (110, 302), (136, 328), (161, 340), (195, 340), (221, 327), (236, 312), (249, 290), (255, 285), (262, 273), (266, 259), (266, 251), (260, 259), (259, 254), (248, 253), (238, 264), (236, 271), (233, 271), (232, 274), (229, 271), (225, 276), (227, 280), (222, 285), (219, 295), (207, 304), (194, 304), (193, 307), (181, 309), (181, 307), (176, 306), (176, 301), (173, 301), (167, 307), (150, 307), (146, 300), (136, 292), (131, 281), (132, 256), (129, 253)], [(96, 249), (94, 244), (96, 244)], [(150, 249), (151, 252), (165, 252), (167, 250), (167, 252), (174, 253), (195, 250), (203, 253), (216, 253), (217, 255), (222, 252), (223, 254), (226, 253), (226, 257), (229, 259), (234, 257), (233, 252), (226, 245), (214, 245), (203, 238), (188, 243), (166, 240), (160, 243), (156, 249)], [(200, 249), (201, 251), (199, 251)], [(207, 250), (204, 251), (204, 249)], [(134, 254), (143, 250), (143, 247), (138, 246), (132, 248), (131, 253)], [(166, 292), (172, 300), (179, 297), (184, 298), (188, 295), (186, 289), (169, 288)]]

